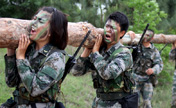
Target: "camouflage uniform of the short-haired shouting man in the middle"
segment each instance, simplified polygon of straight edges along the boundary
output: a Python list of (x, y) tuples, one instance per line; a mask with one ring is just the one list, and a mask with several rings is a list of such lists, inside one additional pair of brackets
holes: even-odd
[[(107, 52), (102, 49), (100, 53), (91, 53), (89, 57), (79, 57), (71, 72), (74, 75), (92, 72), (97, 94), (93, 101), (93, 108), (121, 108), (117, 99), (130, 94), (129, 90), (124, 92), (124, 81), (122, 79), (125, 72), (127, 74), (127, 70), (132, 67), (132, 64), (130, 50), (118, 42)], [(114, 96), (110, 96), (113, 93)]]

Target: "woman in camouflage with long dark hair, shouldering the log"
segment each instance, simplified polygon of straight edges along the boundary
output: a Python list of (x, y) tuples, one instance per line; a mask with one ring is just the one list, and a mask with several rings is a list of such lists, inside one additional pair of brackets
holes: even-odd
[(63, 50), (68, 40), (67, 25), (65, 14), (44, 7), (32, 19), (29, 37), (21, 36), (18, 50), (7, 49), (6, 83), (16, 87), (13, 95), (18, 108), (55, 108), (58, 105), (56, 100), (65, 68)]

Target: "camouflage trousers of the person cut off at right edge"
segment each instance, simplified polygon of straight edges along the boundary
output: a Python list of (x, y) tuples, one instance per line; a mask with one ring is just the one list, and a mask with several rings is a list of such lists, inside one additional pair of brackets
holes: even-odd
[(172, 85), (172, 108), (176, 108), (176, 70), (174, 71), (173, 85)]

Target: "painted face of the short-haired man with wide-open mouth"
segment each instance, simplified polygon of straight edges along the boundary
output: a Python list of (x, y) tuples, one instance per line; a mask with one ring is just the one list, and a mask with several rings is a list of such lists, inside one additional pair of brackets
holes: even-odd
[(117, 42), (117, 24), (113, 20), (108, 20), (104, 26), (104, 40), (107, 43)]

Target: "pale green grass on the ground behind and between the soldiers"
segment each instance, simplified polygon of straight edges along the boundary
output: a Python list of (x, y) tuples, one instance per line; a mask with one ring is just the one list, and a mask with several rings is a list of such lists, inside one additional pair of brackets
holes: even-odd
[[(72, 54), (75, 49), (67, 48), (69, 54)], [(80, 51), (82, 52), (82, 51)], [(6, 49), (0, 49), (0, 104), (5, 102), (12, 96), (14, 88), (7, 87), (5, 83), (4, 75), (4, 54)], [(80, 55), (80, 53), (78, 54)], [(171, 88), (173, 65), (166, 63), (164, 67), (163, 75), (160, 76), (160, 84), (154, 89), (152, 98), (153, 108), (170, 108), (171, 103)], [(167, 73), (169, 77), (166, 77), (164, 73)], [(169, 79), (164, 80), (164, 79)], [(161, 83), (162, 82), (162, 83)], [(95, 90), (93, 89), (92, 79), (90, 74), (84, 76), (75, 77), (69, 74), (61, 87), (60, 101), (66, 105), (66, 108), (91, 108), (93, 98), (95, 97)]]

